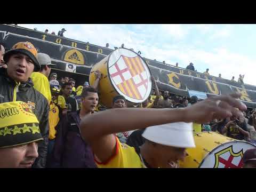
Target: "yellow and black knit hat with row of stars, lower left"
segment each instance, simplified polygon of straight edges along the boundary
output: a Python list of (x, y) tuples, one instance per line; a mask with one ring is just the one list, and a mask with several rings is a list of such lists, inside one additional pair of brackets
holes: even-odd
[(0, 111), (0, 148), (43, 140), (38, 119), (26, 102), (1, 103)]

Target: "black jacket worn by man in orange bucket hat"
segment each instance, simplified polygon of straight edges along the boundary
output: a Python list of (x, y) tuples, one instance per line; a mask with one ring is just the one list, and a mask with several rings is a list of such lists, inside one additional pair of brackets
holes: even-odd
[[(17, 84), (9, 78), (6, 69), (0, 69), (0, 103), (13, 101), (14, 88)], [(39, 129), (44, 138), (38, 145), (38, 158), (33, 167), (43, 168), (46, 165), (47, 145), (49, 136), (49, 104), (44, 95), (33, 88), (33, 82), (29, 78), (18, 86), (17, 101), (28, 103), (39, 121)]]

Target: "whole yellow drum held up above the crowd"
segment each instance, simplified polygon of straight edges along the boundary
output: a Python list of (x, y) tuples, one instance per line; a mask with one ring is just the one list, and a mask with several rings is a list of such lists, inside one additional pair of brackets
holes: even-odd
[(99, 102), (105, 107), (111, 107), (116, 95), (123, 95), (132, 103), (141, 103), (150, 95), (152, 82), (147, 63), (129, 49), (117, 49), (96, 63), (90, 73), (90, 85), (95, 81), (93, 72), (96, 70), (103, 74), (99, 83)]

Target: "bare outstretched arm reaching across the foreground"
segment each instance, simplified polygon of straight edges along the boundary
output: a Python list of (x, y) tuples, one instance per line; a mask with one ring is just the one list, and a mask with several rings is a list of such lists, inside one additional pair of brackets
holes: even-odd
[[(246, 106), (235, 99), (239, 96), (240, 94), (220, 95), (186, 108), (177, 109), (109, 109), (85, 116), (80, 125), (81, 135), (92, 147), (98, 159), (101, 162), (106, 162), (115, 154), (116, 139), (113, 133), (144, 129), (148, 126), (166, 123), (206, 123), (213, 118), (243, 116), (241, 111), (233, 108), (246, 110)], [(217, 105), (218, 103), (219, 105)]]

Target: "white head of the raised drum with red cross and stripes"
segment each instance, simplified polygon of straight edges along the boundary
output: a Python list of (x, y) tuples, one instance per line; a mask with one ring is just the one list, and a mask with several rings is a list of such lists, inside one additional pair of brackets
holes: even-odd
[(146, 62), (137, 53), (117, 49), (108, 59), (111, 84), (118, 94), (133, 103), (144, 102), (152, 90), (151, 74)]

